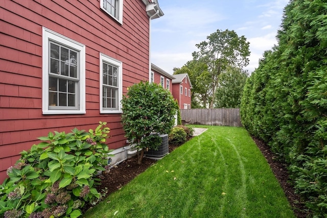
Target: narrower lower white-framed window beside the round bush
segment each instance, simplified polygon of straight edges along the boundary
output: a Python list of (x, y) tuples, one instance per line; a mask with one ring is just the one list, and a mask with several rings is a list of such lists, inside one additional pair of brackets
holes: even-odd
[(100, 113), (121, 113), (123, 63), (100, 53)]

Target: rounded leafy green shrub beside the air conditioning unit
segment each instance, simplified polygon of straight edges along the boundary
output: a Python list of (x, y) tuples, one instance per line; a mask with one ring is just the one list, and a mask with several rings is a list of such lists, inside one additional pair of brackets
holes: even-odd
[(137, 163), (141, 164), (146, 150), (160, 146), (159, 134), (170, 133), (178, 107), (169, 90), (149, 82), (130, 86), (122, 104), (125, 136), (137, 150), (142, 149), (137, 152)]

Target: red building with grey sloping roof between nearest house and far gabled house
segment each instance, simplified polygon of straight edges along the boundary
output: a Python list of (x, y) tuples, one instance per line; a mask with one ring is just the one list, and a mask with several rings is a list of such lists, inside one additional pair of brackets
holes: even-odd
[(165, 70), (151, 64), (151, 77), (150, 82), (160, 84), (162, 87), (168, 89), (173, 93), (172, 80), (175, 79), (174, 76), (168, 74)]

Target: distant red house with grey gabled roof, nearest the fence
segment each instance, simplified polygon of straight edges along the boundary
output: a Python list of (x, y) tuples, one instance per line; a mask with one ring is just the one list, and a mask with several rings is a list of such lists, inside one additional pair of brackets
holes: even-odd
[(173, 96), (178, 101), (180, 109), (191, 109), (192, 84), (188, 74), (173, 75)]

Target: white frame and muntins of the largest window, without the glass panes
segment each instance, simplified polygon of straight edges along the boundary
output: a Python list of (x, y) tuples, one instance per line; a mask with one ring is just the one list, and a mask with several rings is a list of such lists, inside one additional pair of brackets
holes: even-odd
[[(66, 60), (66, 62), (62, 61), (59, 57), (57, 60), (59, 63), (59, 72), (56, 74), (54, 72), (50, 72), (51, 70), (51, 47), (50, 43), (53, 45), (59, 46), (60, 51), (61, 47), (63, 49), (73, 51), (77, 53), (76, 57), (76, 77), (72, 77), (71, 75), (65, 76), (61, 74), (60, 66), (62, 63), (70, 66), (71, 60)], [(59, 54), (58, 54), (59, 55)], [(70, 53), (69, 53), (70, 55)], [(74, 61), (74, 62), (75, 62)], [(69, 69), (70, 70), (70, 69)], [(74, 82), (75, 87), (75, 106), (59, 106), (56, 104), (50, 105), (50, 85), (49, 85), (49, 77), (52, 79), (66, 80), (67, 82)], [(67, 87), (68, 88), (68, 87)], [(57, 92), (57, 98), (59, 98), (59, 87), (55, 90)], [(69, 98), (69, 90), (65, 93)], [(68, 101), (69, 102), (69, 101)], [(86, 113), (85, 109), (85, 45), (81, 44), (71, 38), (63, 36), (59, 33), (56, 33), (50, 29), (42, 27), (42, 113), (43, 114), (84, 114)]]

